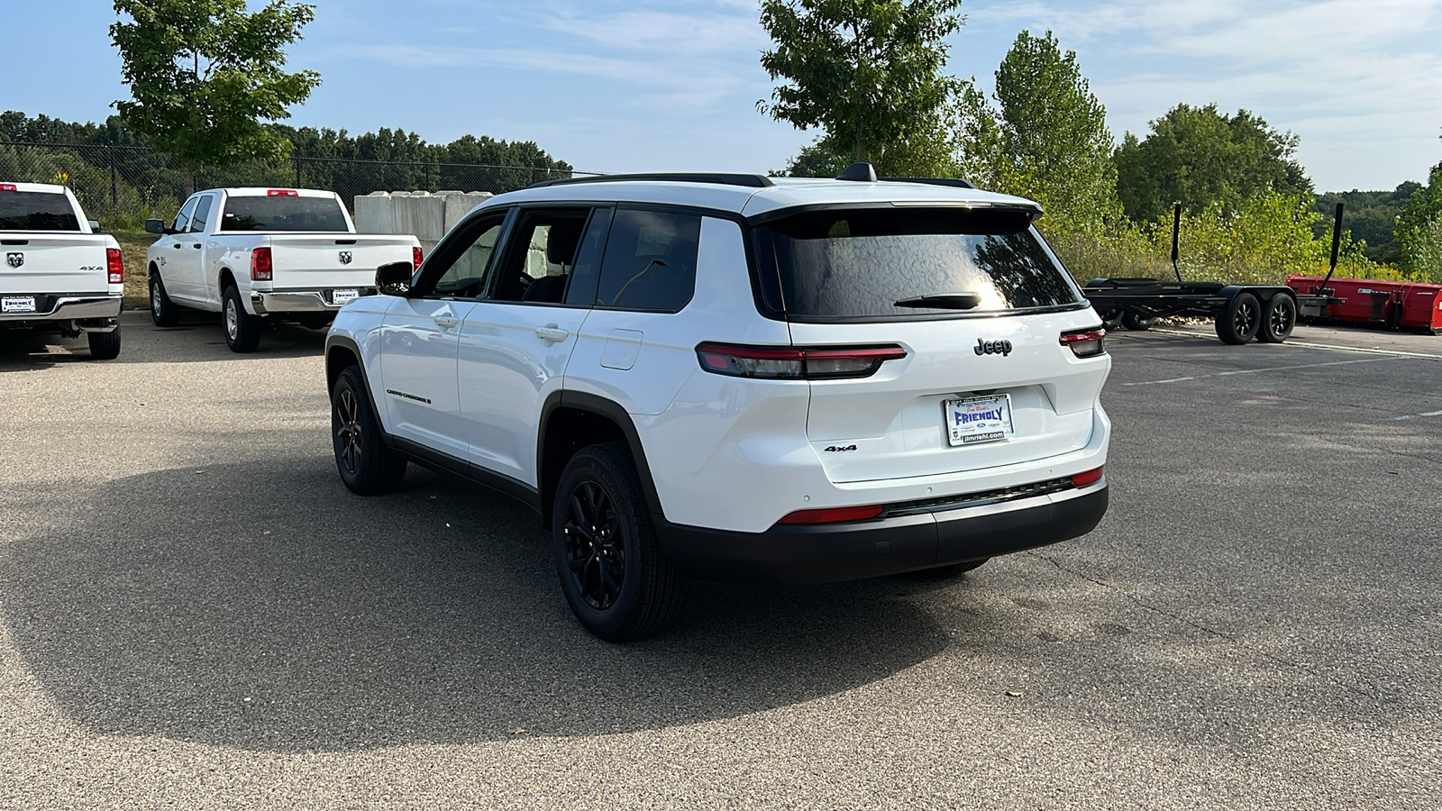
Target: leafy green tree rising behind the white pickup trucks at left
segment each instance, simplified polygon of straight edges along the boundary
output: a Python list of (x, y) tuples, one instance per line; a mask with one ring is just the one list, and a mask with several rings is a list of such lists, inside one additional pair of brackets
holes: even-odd
[(314, 7), (271, 0), (115, 0), (110, 26), (133, 101), (121, 118), (195, 173), (252, 157), (286, 157), (274, 121), (320, 84), (314, 71), (287, 74), (284, 46), (300, 39)]

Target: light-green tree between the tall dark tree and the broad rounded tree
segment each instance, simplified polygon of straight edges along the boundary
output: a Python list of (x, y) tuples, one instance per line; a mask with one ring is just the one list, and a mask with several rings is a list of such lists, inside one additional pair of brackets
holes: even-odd
[(1048, 30), (1022, 30), (996, 69), (995, 104), (970, 85), (959, 97), (960, 159), (979, 185), (1035, 199), (1050, 234), (1100, 234), (1119, 216), (1116, 141), (1074, 51)]

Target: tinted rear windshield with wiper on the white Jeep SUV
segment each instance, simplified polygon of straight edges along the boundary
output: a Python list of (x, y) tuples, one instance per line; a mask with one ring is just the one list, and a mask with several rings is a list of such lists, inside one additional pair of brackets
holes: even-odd
[[(776, 257), (782, 300), (773, 306), (787, 317), (962, 316), (1079, 303), (1028, 225), (1017, 211), (831, 209), (760, 232)], [(949, 296), (950, 306), (924, 306), (929, 296)]]

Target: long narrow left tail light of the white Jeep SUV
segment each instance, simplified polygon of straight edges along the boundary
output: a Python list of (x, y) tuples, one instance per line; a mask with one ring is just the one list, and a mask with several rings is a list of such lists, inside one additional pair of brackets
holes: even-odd
[(890, 346), (796, 348), (734, 346), (702, 343), (696, 346), (701, 368), (731, 377), (758, 380), (836, 380), (877, 374), (881, 364), (906, 358), (906, 349)]

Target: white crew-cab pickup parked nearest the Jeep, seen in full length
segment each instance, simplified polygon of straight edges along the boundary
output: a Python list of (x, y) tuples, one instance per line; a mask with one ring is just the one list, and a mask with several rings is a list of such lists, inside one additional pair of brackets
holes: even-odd
[(180, 307), (224, 313), (235, 352), (254, 352), (267, 320), (327, 326), (375, 294), (382, 264), (421, 264), (415, 237), (356, 234), (340, 198), (313, 189), (196, 192), (174, 222), (147, 219), (146, 231), (162, 235), (146, 255), (156, 325), (174, 326)]

